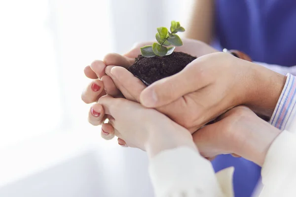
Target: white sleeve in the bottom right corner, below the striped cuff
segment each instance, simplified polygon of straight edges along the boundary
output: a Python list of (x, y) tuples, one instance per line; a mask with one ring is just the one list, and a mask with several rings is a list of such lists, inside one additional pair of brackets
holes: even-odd
[(270, 146), (261, 175), (259, 197), (296, 197), (296, 134), (282, 133)]

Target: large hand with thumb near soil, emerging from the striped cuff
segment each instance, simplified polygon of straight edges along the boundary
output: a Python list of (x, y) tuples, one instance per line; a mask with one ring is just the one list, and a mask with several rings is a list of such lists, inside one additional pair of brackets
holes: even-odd
[(285, 81), (284, 75), (262, 66), (226, 53), (214, 53), (197, 58), (181, 72), (148, 86), (140, 101), (146, 107), (161, 107), (184, 99), (188, 113), (184, 120), (174, 120), (197, 129), (242, 104), (270, 118)]

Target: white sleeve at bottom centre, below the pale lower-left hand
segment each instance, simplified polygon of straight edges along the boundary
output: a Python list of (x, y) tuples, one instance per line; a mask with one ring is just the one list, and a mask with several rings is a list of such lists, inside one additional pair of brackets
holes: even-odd
[(232, 197), (232, 173), (219, 173), (219, 184), (212, 164), (187, 147), (162, 151), (149, 164), (156, 197)]

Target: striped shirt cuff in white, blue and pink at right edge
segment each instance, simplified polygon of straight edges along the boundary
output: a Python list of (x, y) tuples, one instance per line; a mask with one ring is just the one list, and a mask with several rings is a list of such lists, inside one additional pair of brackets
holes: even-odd
[(296, 77), (287, 74), (287, 81), (270, 119), (270, 124), (283, 130), (289, 127), (296, 115)]

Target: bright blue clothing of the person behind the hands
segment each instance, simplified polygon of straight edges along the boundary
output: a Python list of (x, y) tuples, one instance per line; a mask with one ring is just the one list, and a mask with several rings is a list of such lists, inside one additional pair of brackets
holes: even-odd
[[(236, 49), (253, 61), (296, 65), (296, 0), (216, 0), (215, 44)], [(215, 171), (234, 166), (235, 197), (250, 197), (261, 168), (243, 158), (218, 156)]]

